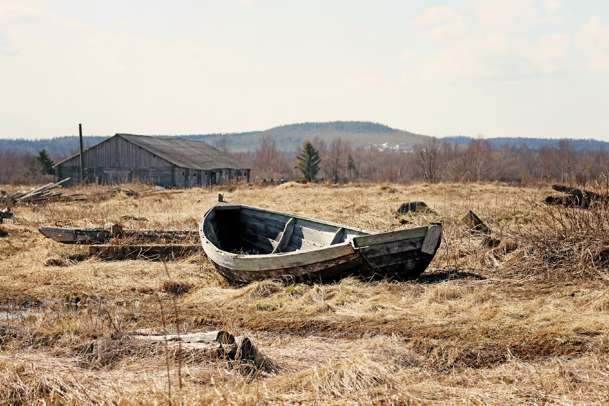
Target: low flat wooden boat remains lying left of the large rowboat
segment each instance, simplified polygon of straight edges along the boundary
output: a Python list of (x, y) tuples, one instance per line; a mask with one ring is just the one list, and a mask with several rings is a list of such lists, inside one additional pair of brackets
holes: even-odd
[(160, 230), (135, 230), (123, 229), (114, 225), (111, 230), (103, 228), (71, 228), (40, 226), (38, 231), (44, 237), (65, 244), (104, 244), (113, 238), (141, 240), (141, 241), (182, 241), (196, 236), (197, 231), (160, 231)]

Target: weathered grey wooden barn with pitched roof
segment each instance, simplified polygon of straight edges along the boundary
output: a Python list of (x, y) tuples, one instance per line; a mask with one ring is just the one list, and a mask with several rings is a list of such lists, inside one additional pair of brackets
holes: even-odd
[[(116, 134), (83, 151), (90, 182), (150, 181), (161, 186), (205, 186), (250, 180), (244, 163), (203, 141)], [(58, 179), (80, 181), (79, 154), (54, 165)]]

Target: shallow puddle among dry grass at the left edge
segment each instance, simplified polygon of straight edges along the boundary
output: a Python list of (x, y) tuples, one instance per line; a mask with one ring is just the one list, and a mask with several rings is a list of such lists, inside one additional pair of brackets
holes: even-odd
[(110, 306), (99, 304), (76, 304), (76, 303), (49, 303), (40, 306), (1, 306), (0, 319), (26, 318), (30, 315), (41, 316), (43, 313), (74, 314), (86, 312), (87, 310), (96, 311), (98, 308), (108, 312), (132, 313), (138, 310), (146, 310), (148, 307), (143, 304), (113, 304)]

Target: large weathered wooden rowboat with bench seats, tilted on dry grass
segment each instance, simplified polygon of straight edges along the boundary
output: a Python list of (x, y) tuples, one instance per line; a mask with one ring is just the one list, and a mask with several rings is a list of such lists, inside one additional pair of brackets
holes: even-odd
[(219, 202), (199, 225), (203, 250), (228, 282), (330, 282), (346, 276), (415, 279), (440, 246), (442, 225), (375, 234)]

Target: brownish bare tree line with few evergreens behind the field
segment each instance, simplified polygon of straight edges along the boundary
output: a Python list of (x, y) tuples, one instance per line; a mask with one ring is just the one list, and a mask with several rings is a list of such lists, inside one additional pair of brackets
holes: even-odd
[[(252, 179), (284, 179), (328, 183), (426, 181), (563, 181), (583, 184), (607, 170), (609, 152), (575, 149), (567, 139), (556, 146), (531, 149), (526, 144), (493, 148), (488, 139), (473, 138), (467, 146), (426, 138), (412, 152), (353, 148), (346, 138), (331, 141), (316, 136), (291, 156), (278, 148), (275, 136), (265, 133), (253, 152), (231, 151), (230, 138), (214, 144), (253, 168)], [(65, 156), (46, 150), (37, 155), (0, 149), (0, 184), (38, 183), (53, 173), (53, 161)]]

